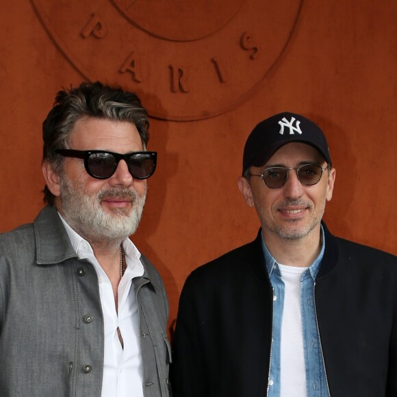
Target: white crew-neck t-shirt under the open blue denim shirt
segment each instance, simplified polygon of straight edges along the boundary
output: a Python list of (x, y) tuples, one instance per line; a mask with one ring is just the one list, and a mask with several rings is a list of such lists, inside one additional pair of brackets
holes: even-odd
[(300, 309), (300, 276), (307, 268), (279, 264), (285, 286), (281, 323), (280, 396), (307, 396), (305, 351)]

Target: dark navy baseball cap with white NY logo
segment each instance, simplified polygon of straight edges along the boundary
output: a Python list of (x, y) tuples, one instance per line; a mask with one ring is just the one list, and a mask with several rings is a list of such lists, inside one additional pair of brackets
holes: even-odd
[(317, 149), (331, 166), (328, 144), (320, 127), (300, 114), (283, 112), (261, 121), (244, 146), (242, 175), (251, 166), (260, 167), (290, 142), (303, 142)]

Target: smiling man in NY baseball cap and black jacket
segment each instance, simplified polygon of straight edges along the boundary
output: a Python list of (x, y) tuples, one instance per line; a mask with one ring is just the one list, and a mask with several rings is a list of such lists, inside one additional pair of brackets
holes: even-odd
[(261, 229), (185, 282), (174, 396), (397, 396), (397, 258), (330, 233), (334, 183), (311, 120), (253, 129), (238, 186)]

